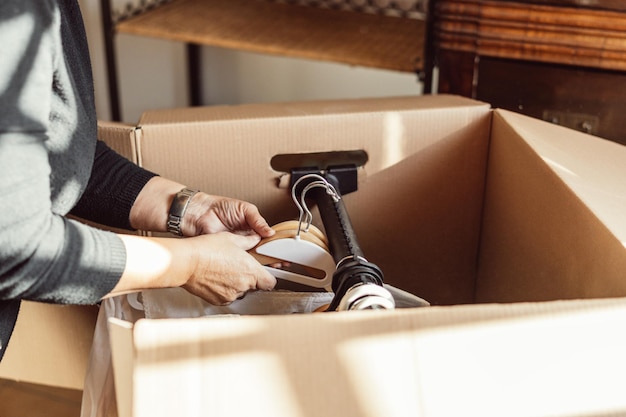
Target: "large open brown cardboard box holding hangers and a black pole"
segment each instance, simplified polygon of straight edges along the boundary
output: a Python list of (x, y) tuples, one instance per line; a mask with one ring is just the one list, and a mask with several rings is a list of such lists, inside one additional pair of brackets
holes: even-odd
[(274, 156), (365, 150), (344, 197), (361, 247), (433, 304), (112, 320), (122, 417), (626, 413), (625, 147), (452, 96), (151, 111), (114, 130), (140, 165), (270, 223), (297, 215)]

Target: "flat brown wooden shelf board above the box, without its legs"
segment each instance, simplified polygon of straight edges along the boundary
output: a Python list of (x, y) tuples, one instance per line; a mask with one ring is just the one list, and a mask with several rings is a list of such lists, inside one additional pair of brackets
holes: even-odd
[(265, 0), (175, 0), (117, 33), (401, 72), (424, 69), (426, 22)]

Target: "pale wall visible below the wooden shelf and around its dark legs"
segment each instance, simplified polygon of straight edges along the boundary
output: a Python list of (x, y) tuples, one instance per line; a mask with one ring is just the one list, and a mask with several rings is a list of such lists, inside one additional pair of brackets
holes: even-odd
[[(80, 0), (80, 4), (92, 54), (98, 117), (108, 120), (100, 2)], [(119, 35), (116, 39), (123, 121), (135, 123), (147, 109), (187, 105), (186, 58), (182, 44), (130, 35)], [(414, 74), (213, 47), (204, 47), (202, 55), (205, 104), (419, 95), (422, 92), (422, 85)]]

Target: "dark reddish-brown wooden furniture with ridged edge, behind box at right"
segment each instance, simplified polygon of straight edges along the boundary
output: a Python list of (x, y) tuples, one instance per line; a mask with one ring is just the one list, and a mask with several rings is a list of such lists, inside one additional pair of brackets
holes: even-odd
[(626, 144), (626, 2), (437, 0), (438, 91)]

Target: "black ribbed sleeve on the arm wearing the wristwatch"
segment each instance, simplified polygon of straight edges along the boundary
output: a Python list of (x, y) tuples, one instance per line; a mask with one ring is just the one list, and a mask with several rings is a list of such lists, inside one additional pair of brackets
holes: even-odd
[(155, 175), (98, 141), (89, 183), (70, 213), (105, 226), (131, 230), (130, 209)]

